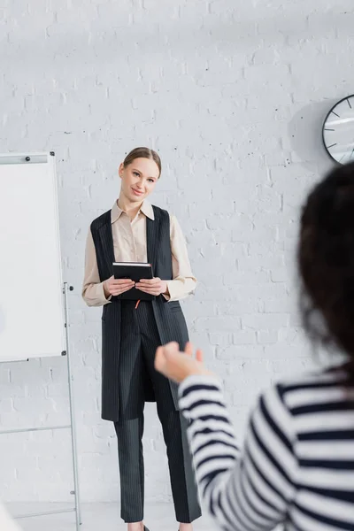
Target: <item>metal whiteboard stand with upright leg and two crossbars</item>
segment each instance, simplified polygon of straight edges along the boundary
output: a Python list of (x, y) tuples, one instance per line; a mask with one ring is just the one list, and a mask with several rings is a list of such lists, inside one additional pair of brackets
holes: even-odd
[[(72, 459), (73, 459), (73, 485), (74, 490), (70, 494), (74, 495), (75, 504), (71, 509), (63, 509), (58, 511), (48, 511), (48, 512), (36, 512), (29, 514), (20, 514), (15, 516), (15, 519), (24, 519), (31, 518), (36, 516), (47, 516), (50, 514), (59, 514), (63, 512), (75, 512), (76, 517), (76, 531), (80, 530), (81, 526), (81, 506), (80, 506), (80, 492), (79, 492), (79, 474), (78, 474), (78, 463), (77, 463), (77, 450), (76, 450), (76, 427), (75, 427), (75, 416), (73, 409), (73, 373), (71, 365), (71, 356), (70, 356), (70, 337), (69, 337), (69, 306), (68, 306), (68, 291), (73, 291), (73, 286), (68, 286), (67, 282), (63, 285), (63, 296), (65, 302), (65, 348), (66, 350), (62, 352), (63, 356), (66, 356), (67, 362), (67, 377), (68, 377), (68, 389), (69, 389), (69, 404), (70, 404), (70, 424), (65, 426), (49, 426), (49, 427), (27, 427), (22, 429), (12, 429), (0, 431), (0, 435), (3, 434), (15, 434), (15, 433), (27, 433), (27, 432), (36, 432), (36, 431), (50, 431), (57, 429), (69, 429), (71, 432), (72, 439)], [(3, 362), (6, 363), (6, 362)]]

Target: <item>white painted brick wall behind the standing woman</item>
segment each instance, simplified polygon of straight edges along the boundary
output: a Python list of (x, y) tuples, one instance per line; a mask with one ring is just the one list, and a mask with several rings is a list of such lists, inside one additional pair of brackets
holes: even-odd
[[(353, 91), (354, 5), (0, 0), (0, 27), (0, 151), (57, 153), (81, 493), (116, 500), (116, 441), (99, 417), (100, 312), (80, 296), (89, 222), (118, 194), (124, 153), (156, 148), (154, 200), (180, 219), (200, 281), (184, 305), (190, 332), (224, 377), (242, 435), (259, 389), (310, 363), (296, 316), (296, 221), (330, 165), (321, 121)], [(67, 421), (65, 359), (1, 366), (0, 385), (2, 427)], [(147, 498), (169, 499), (154, 406), (146, 415)], [(4, 499), (70, 499), (68, 433), (2, 435), (0, 455)]]

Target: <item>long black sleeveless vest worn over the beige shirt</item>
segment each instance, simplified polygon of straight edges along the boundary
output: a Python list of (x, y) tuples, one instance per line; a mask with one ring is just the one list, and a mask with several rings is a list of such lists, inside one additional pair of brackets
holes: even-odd
[[(156, 277), (164, 281), (172, 280), (172, 251), (170, 241), (169, 213), (153, 206), (155, 219), (146, 218), (146, 240), (148, 262), (153, 266)], [(95, 244), (98, 273), (101, 281), (109, 279), (112, 263), (115, 261), (111, 211), (105, 212), (91, 223), (91, 234)], [(189, 341), (188, 329), (181, 305), (168, 303), (164, 296), (158, 296), (151, 302), (161, 344), (176, 341), (181, 350)], [(111, 304), (105, 304), (102, 314), (102, 418), (117, 421), (119, 419), (119, 347), (120, 347), (121, 301), (119, 296), (112, 297)], [(177, 385), (170, 382), (173, 402), (178, 409)], [(153, 401), (153, 390), (148, 387), (145, 399)]]

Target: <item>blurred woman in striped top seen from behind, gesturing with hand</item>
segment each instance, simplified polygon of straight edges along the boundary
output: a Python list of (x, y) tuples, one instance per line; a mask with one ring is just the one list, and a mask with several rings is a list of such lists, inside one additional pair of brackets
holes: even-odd
[(181, 383), (200, 494), (225, 530), (354, 530), (354, 164), (307, 197), (297, 261), (304, 327), (346, 361), (262, 393), (242, 452), (202, 352), (194, 359), (176, 343), (157, 351), (156, 368)]

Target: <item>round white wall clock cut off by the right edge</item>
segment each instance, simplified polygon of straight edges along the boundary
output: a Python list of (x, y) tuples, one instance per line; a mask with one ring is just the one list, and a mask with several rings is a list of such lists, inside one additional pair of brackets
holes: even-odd
[(323, 142), (336, 162), (354, 162), (354, 95), (343, 98), (328, 112)]

